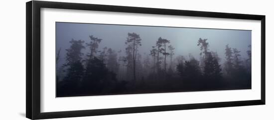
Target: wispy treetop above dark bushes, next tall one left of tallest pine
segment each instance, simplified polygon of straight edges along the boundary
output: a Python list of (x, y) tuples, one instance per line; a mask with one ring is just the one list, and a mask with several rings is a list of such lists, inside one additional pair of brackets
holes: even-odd
[(90, 43), (86, 43), (87, 46), (90, 48), (90, 53), (88, 54), (89, 59), (91, 59), (94, 54), (97, 53), (97, 48), (99, 46), (99, 43), (102, 41), (102, 39), (94, 37), (93, 35), (90, 35)]

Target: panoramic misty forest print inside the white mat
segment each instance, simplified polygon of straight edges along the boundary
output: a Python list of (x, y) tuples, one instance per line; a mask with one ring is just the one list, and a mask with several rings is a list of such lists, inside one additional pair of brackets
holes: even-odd
[(251, 30), (55, 25), (56, 97), (251, 89)]

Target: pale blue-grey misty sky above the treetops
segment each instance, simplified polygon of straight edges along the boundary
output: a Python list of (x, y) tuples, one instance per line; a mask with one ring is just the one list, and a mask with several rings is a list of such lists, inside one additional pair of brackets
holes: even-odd
[[(229, 30), (210, 28), (184, 28), (166, 26), (136, 26), (136, 25), (114, 25), (114, 24), (92, 24), (92, 23), (70, 23), (56, 22), (56, 53), (61, 48), (60, 62), (64, 63), (65, 49), (70, 46), (69, 41), (84, 40), (90, 42), (89, 35), (101, 38), (98, 50), (104, 47), (112, 48), (115, 51), (122, 50), (125, 55), (125, 41), (128, 33), (135, 32), (140, 35), (141, 46), (138, 53), (142, 56), (149, 54), (151, 46), (155, 46), (159, 37), (170, 40), (174, 50), (174, 58), (179, 55), (185, 57), (190, 53), (199, 60), (200, 47), (197, 46), (199, 38), (208, 39), (209, 50), (217, 52), (221, 63), (225, 61), (225, 46), (241, 51), (241, 57), (247, 58), (248, 45), (251, 45), (251, 30)], [(85, 44), (84, 44), (85, 45)], [(88, 47), (83, 53), (88, 51)], [(143, 56), (144, 57), (144, 56)]]

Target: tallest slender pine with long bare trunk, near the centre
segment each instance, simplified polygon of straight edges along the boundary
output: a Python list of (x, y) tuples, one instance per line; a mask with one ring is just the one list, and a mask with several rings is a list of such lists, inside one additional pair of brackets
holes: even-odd
[(133, 80), (136, 82), (136, 57), (138, 46), (141, 46), (141, 38), (137, 33), (128, 33), (127, 40), (125, 42), (132, 49), (133, 59)]

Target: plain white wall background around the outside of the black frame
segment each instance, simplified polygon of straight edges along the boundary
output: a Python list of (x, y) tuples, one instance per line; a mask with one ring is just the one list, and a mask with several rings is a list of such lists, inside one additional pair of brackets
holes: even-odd
[[(25, 2), (4, 0), (0, 4), (0, 120), (27, 120), (25, 116)], [(266, 15), (266, 102), (246, 106), (57, 120), (274, 120), (274, 32), (272, 0), (53, 0), (124, 6), (157, 7)]]

